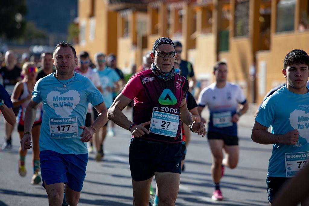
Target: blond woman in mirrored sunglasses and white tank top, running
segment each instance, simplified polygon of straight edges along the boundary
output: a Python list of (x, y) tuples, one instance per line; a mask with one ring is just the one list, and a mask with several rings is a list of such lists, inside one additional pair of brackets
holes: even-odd
[[(23, 138), (24, 122), (25, 122), (25, 112), (28, 106), (33, 91), (34, 85), (36, 83), (37, 68), (35, 62), (25, 62), (22, 68), (22, 74), (25, 76), (20, 82), (15, 85), (12, 102), (14, 107), (19, 107), (19, 113), (17, 115), (17, 131), (19, 133), (20, 140)], [(31, 179), (31, 184), (38, 184), (41, 182), (41, 177), (38, 174), (40, 170), (40, 150), (39, 150), (39, 135), (42, 123), (42, 112), (41, 105), (38, 107), (36, 112), (36, 118), (32, 126), (32, 137), (33, 137), (33, 148), (32, 148), (32, 166), (33, 166), (33, 176)], [(18, 161), (18, 173), (20, 176), (24, 177), (27, 174), (25, 167), (25, 157), (27, 154), (27, 149), (22, 150), (19, 147), (19, 161)]]

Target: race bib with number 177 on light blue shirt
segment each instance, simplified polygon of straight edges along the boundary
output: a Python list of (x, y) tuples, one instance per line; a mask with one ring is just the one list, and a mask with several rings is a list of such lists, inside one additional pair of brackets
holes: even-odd
[(61, 139), (77, 137), (77, 117), (59, 117), (49, 119), (50, 138)]

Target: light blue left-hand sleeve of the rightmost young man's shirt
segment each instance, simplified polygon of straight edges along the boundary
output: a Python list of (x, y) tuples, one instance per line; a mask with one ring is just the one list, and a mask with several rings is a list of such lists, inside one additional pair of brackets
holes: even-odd
[(259, 113), (257, 113), (255, 120), (264, 127), (269, 127), (271, 124), (273, 124), (273, 121), (275, 119), (275, 106), (276, 105), (274, 104), (272, 98), (267, 97), (262, 103), (260, 111)]

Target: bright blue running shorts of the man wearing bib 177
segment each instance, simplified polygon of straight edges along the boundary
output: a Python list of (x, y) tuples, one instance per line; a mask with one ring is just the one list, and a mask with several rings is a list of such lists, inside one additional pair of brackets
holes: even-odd
[(82, 191), (86, 176), (88, 154), (61, 154), (40, 151), (41, 175), (47, 185), (66, 183), (74, 191)]

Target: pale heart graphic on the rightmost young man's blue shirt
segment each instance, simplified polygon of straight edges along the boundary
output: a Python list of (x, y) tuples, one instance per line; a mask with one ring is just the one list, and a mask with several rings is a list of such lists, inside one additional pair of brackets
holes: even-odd
[(290, 124), (294, 129), (297, 129), (299, 136), (309, 140), (309, 115), (303, 110), (295, 109), (290, 114)]

